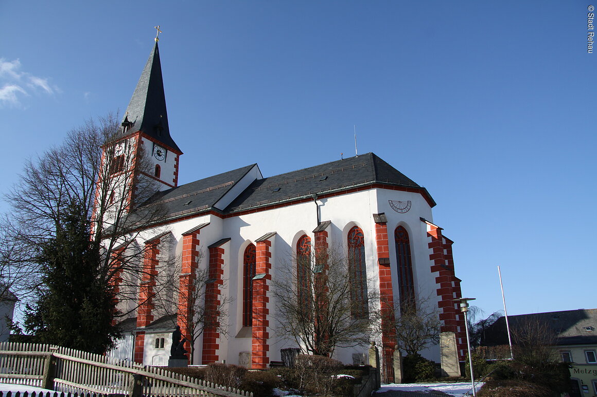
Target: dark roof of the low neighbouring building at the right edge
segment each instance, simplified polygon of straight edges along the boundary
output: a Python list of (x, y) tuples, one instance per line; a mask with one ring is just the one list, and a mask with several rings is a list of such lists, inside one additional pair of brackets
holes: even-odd
[[(597, 343), (597, 309), (578, 309), (508, 316), (514, 336), (527, 323), (545, 325), (554, 336), (554, 345), (592, 345)], [(590, 329), (587, 331), (587, 327)], [(507, 345), (506, 319), (498, 318), (487, 328), (482, 345)]]

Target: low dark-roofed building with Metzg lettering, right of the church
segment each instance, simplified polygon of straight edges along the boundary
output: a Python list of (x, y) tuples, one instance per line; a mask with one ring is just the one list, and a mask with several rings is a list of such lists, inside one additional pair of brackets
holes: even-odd
[[(508, 316), (510, 333), (525, 327), (546, 330), (561, 361), (570, 362), (571, 397), (597, 396), (597, 309), (577, 309)], [(482, 345), (507, 345), (506, 321), (498, 318), (485, 331)]]

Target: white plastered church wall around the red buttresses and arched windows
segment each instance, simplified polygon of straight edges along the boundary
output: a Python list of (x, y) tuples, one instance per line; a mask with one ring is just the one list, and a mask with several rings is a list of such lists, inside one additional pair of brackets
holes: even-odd
[[(406, 213), (398, 213), (393, 210), (388, 200), (411, 201), (411, 208)], [(396, 253), (393, 243), (393, 233), (398, 225), (403, 225), (410, 237), (411, 256), (413, 260), (414, 278), (417, 292), (421, 296), (430, 296), (435, 299), (436, 285), (435, 276), (430, 273), (429, 249), (427, 243), (429, 238), (426, 235), (426, 228), (420, 218), (432, 219), (431, 209), (423, 196), (418, 193), (409, 193), (396, 190), (372, 189), (341, 196), (316, 200), (319, 206), (319, 220), (331, 221), (327, 228), (328, 244), (331, 247), (340, 246), (346, 250), (346, 236), (352, 226), (357, 225), (365, 237), (365, 257), (367, 261), (368, 277), (373, 279), (374, 285), (378, 286), (377, 250), (375, 241), (375, 224), (373, 213), (386, 213), (387, 231), (389, 237), (390, 261), (392, 263), (392, 280), (395, 294), (398, 293), (398, 274), (396, 271)], [(317, 226), (317, 212), (315, 201), (309, 200), (304, 203), (293, 204), (277, 209), (264, 210), (247, 215), (221, 218), (216, 215), (206, 215), (199, 218), (187, 219), (170, 225), (170, 229), (176, 239), (176, 255), (181, 254), (182, 236), (181, 233), (196, 227), (199, 224), (209, 222), (207, 227), (201, 229), (199, 240), (204, 251), (204, 258), (200, 266), (205, 268), (208, 265), (207, 246), (215, 243), (221, 238), (231, 238), (225, 243), (224, 248), (224, 280), (226, 283), (222, 293), (231, 296), (233, 301), (229, 304), (229, 330), (227, 336), (221, 335), (219, 341), (220, 349), (217, 352), (220, 361), (230, 364), (238, 364), (239, 352), (251, 351), (250, 333), (245, 337), (237, 337), (242, 328), (242, 258), (245, 247), (248, 244), (255, 244), (255, 240), (268, 232), (276, 232), (272, 240), (272, 278), (284, 277), (279, 273), (279, 264), (291, 258), (296, 250), (296, 242), (300, 235), (306, 234), (314, 241), (313, 229)], [(148, 232), (147, 238), (156, 235), (157, 231)], [(270, 284), (271, 285), (271, 284)], [(275, 300), (271, 292), (269, 296), (269, 321), (270, 327), (275, 326)], [(397, 298), (397, 297), (396, 297)], [(399, 299), (395, 298), (398, 303)], [(269, 329), (269, 359), (279, 361), (280, 349), (296, 347), (296, 342), (281, 339), (276, 335), (273, 328)], [(195, 345), (195, 364), (201, 362), (202, 340), (201, 337)], [(149, 352), (148, 352), (149, 353)], [(337, 349), (334, 357), (343, 362), (352, 362), (352, 353), (368, 353), (368, 346)], [(439, 349), (432, 348), (423, 352), (427, 358), (439, 361)]]

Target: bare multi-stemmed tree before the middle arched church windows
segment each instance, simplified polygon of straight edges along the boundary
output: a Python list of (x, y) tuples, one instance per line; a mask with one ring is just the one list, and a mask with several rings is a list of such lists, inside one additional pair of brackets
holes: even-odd
[(315, 355), (368, 345), (379, 320), (379, 295), (371, 280), (355, 282), (350, 260), (341, 249), (293, 256), (279, 269), (272, 289), (279, 336), (294, 339), (303, 352)]

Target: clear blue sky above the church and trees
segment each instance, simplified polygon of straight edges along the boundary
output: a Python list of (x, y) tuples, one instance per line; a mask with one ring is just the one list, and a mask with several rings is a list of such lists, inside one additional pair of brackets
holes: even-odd
[(181, 183), (353, 156), (356, 125), (359, 153), (435, 198), (487, 314), (497, 265), (509, 314), (595, 308), (591, 4), (4, 0), (0, 192), (85, 119), (122, 114), (159, 24)]

